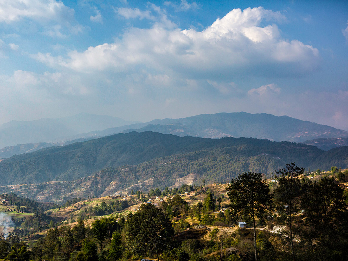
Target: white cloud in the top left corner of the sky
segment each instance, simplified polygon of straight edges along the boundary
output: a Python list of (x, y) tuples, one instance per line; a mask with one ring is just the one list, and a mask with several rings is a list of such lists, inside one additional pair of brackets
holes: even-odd
[(55, 0), (2, 0), (0, 22), (10, 23), (21, 18), (63, 21), (73, 17), (74, 10)]

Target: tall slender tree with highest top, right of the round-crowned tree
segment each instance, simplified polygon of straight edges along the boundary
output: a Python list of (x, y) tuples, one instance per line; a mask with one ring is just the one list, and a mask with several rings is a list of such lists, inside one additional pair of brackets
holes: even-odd
[[(286, 167), (276, 171), (276, 180), (278, 187), (274, 190), (275, 208), (278, 212), (277, 219), (285, 222), (289, 228), (288, 238), (291, 245), (292, 259), (295, 261), (295, 252), (293, 244), (292, 222), (294, 216), (299, 212), (301, 199), (300, 175), (304, 168), (298, 167), (295, 163), (286, 164)], [(287, 232), (283, 231), (284, 234)]]

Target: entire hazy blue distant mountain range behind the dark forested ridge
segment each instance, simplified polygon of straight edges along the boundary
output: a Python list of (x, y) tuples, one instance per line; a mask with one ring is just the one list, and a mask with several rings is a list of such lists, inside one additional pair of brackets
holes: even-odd
[[(46, 142), (50, 143), (46, 144), (48, 146), (56, 146), (116, 133), (148, 130), (177, 136), (188, 135), (214, 139), (230, 136), (253, 137), (270, 141), (306, 141), (307, 144), (316, 146), (324, 142), (325, 146), (321, 148), (325, 150), (345, 144), (336, 142), (334, 139), (348, 138), (348, 132), (345, 130), (266, 113), (200, 114), (187, 118), (152, 120), (145, 123), (81, 113), (60, 119), (11, 121), (2, 124), (0, 127), (0, 148), (9, 147), (0, 149), (0, 158), (10, 157), (14, 151), (18, 152), (13, 154), (18, 154), (39, 149), (41, 147), (35, 145), (38, 142)], [(313, 141), (318, 139), (321, 139), (322, 142)], [(18, 146), (11, 147), (14, 145), (18, 145), (22, 150)]]

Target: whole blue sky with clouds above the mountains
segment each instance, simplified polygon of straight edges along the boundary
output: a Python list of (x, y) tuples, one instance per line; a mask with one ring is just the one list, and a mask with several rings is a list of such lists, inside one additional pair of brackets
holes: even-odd
[(0, 124), (240, 111), (348, 130), (347, 1), (0, 1)]

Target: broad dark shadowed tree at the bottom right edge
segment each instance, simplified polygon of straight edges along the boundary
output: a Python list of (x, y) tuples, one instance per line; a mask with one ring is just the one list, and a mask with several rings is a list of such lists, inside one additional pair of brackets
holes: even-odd
[(345, 260), (348, 255), (348, 212), (343, 189), (333, 177), (327, 176), (318, 182), (309, 181), (306, 187), (301, 201), (304, 210), (301, 235), (313, 253), (310, 259)]

